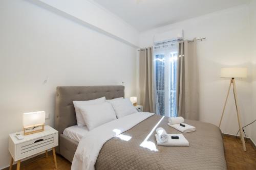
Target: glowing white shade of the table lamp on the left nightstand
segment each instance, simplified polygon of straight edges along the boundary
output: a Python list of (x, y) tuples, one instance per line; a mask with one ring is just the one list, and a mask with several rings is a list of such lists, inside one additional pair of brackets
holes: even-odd
[(46, 112), (38, 111), (38, 112), (30, 112), (23, 113), (23, 126), (33, 126), (38, 124), (44, 124), (46, 122)]

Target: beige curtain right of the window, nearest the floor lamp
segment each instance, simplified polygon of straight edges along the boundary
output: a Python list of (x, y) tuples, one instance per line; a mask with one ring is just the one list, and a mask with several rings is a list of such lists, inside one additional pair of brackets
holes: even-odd
[(187, 119), (199, 119), (197, 40), (179, 42), (177, 112)]

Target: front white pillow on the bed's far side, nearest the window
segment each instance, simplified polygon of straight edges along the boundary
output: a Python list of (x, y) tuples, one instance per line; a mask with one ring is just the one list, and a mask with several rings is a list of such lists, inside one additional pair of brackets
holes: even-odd
[(125, 99), (122, 99), (122, 100), (111, 100), (111, 101), (108, 101), (108, 102), (111, 103), (111, 105), (113, 106), (113, 108), (116, 112), (117, 118), (121, 118), (121, 117), (124, 117), (126, 115), (138, 112), (136, 110), (136, 108), (133, 106), (130, 99), (125, 98)]

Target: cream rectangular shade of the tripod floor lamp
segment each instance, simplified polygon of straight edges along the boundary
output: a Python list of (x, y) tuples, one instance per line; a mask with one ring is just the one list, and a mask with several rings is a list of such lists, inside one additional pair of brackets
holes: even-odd
[(247, 67), (225, 67), (221, 68), (223, 78), (247, 78)]

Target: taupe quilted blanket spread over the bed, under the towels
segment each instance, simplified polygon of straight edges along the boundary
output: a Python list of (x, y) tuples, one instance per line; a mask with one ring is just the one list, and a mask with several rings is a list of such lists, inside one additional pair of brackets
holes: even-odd
[[(107, 141), (98, 156), (95, 169), (226, 169), (220, 129), (212, 124), (185, 119), (197, 131), (183, 133), (189, 147), (162, 147), (156, 144), (155, 131), (148, 138), (148, 148), (140, 147), (162, 116), (151, 116), (122, 133), (130, 140), (118, 137)], [(167, 133), (181, 133), (167, 125), (164, 117), (158, 127)], [(124, 136), (124, 137), (125, 137)], [(150, 150), (156, 148), (157, 151)]]

